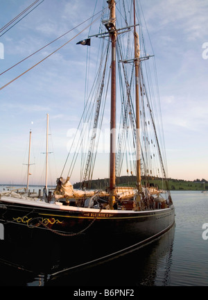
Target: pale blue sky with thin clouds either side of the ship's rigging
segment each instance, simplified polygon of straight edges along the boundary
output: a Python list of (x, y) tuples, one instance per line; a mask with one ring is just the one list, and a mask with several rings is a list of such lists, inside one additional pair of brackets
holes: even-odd
[[(44, 0), (0, 37), (3, 72), (90, 17), (94, 0)], [(101, 1), (102, 2), (102, 1)], [(207, 0), (141, 0), (157, 63), (168, 176), (207, 178), (208, 42)], [(31, 0), (1, 0), (0, 27)], [(98, 23), (97, 23), (98, 24)], [(82, 30), (84, 26), (81, 27)], [(96, 27), (95, 27), (96, 28)], [(0, 76), (1, 87), (73, 38), (73, 31)], [(96, 33), (96, 31), (95, 31)], [(88, 31), (86, 31), (88, 34)], [(25, 183), (28, 138), (32, 130), (31, 184), (44, 182), (46, 114), (49, 113), (49, 183), (55, 183), (67, 157), (67, 132), (82, 113), (86, 47), (81, 33), (49, 59), (0, 91), (0, 183)], [(91, 47), (91, 55), (96, 49)], [(0, 72), (0, 73), (1, 73)], [(52, 167), (55, 165), (55, 167)], [(107, 177), (101, 168), (95, 178)], [(72, 182), (79, 180), (79, 174)]]

